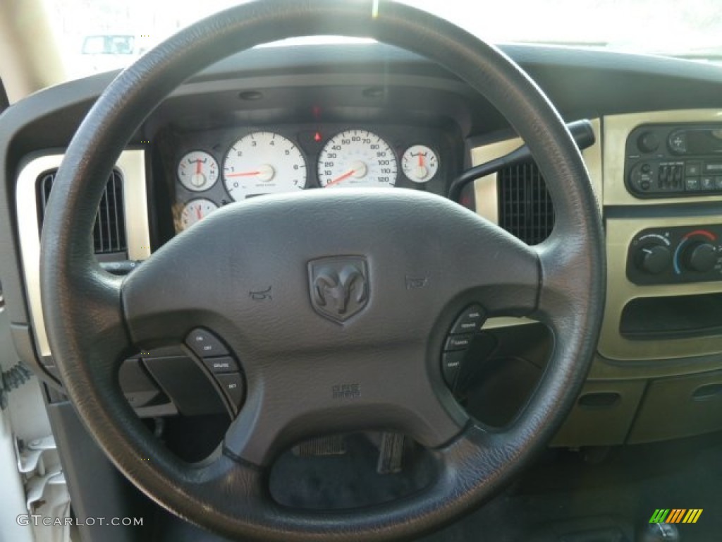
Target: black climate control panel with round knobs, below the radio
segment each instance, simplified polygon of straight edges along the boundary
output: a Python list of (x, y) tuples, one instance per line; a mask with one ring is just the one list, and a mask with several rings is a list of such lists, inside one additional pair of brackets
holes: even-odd
[(640, 231), (627, 252), (627, 278), (640, 285), (722, 280), (722, 225)]

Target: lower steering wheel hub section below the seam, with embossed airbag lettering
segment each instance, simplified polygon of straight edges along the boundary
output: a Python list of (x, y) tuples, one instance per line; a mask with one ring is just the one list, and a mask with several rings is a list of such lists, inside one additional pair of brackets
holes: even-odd
[(427, 370), (424, 350), (419, 342), (257, 360), (224, 447), (232, 457), (269, 465), (300, 440), (354, 431), (396, 431), (443, 446), (469, 418)]

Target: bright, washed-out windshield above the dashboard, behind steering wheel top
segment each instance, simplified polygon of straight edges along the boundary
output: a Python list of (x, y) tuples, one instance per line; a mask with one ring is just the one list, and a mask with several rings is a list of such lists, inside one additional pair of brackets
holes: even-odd
[[(71, 78), (130, 64), (238, 0), (45, 0)], [(409, 0), (492, 43), (551, 43), (716, 60), (720, 0)], [(380, 0), (383, 9), (383, 0)]]

